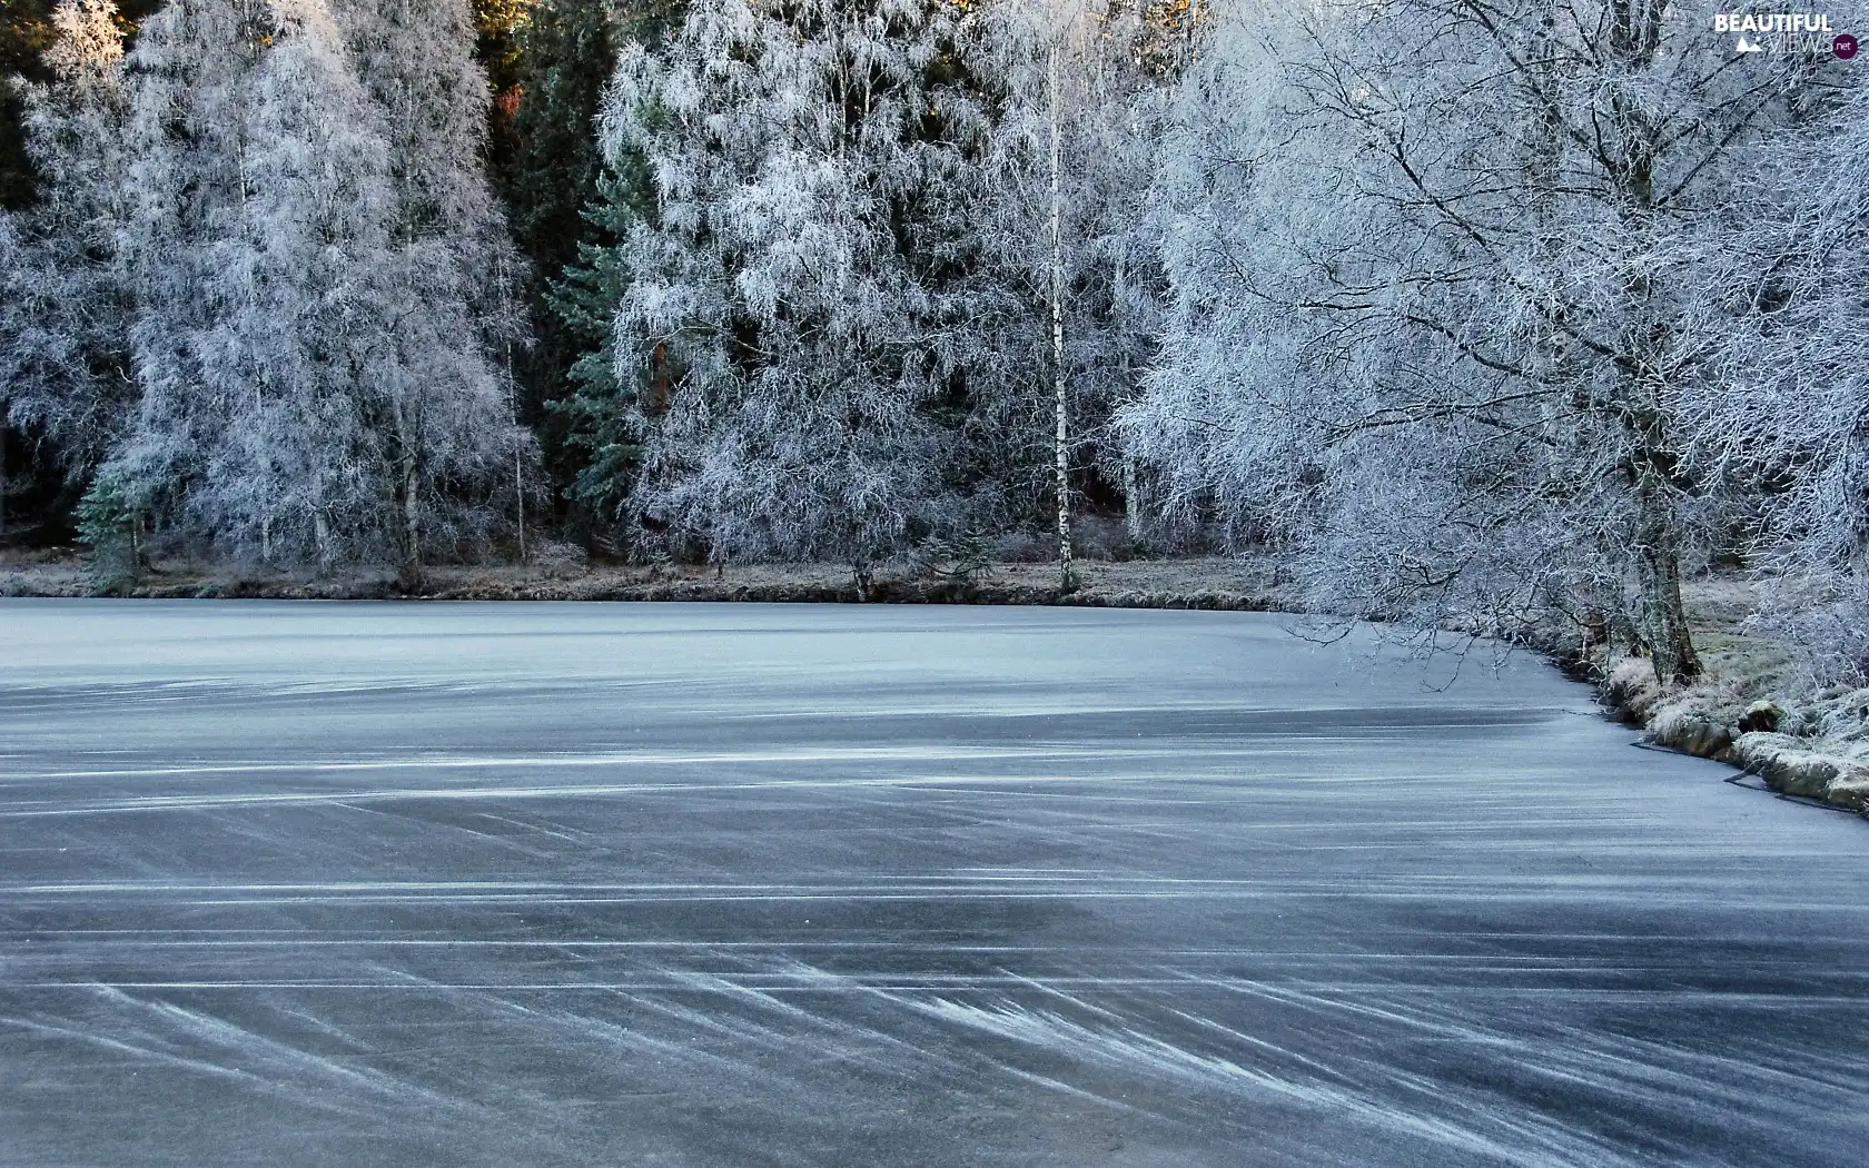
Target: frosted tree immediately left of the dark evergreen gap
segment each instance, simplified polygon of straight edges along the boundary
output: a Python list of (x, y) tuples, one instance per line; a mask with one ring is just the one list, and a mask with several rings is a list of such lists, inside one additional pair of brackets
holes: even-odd
[(344, 0), (355, 69), (385, 125), (396, 198), (394, 351), (366, 377), (394, 499), (402, 574), (422, 548), (473, 538), (490, 516), (464, 506), (506, 482), (523, 555), (535, 449), (520, 426), (512, 348), (525, 340), (521, 262), (482, 172), (488, 82), (465, 0)]

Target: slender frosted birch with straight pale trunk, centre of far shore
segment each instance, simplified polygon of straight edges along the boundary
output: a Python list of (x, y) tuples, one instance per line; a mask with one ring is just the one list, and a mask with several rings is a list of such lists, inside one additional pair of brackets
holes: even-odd
[[(981, 415), (998, 432), (1000, 463), (1030, 465), (1028, 490), (1050, 499), (1069, 591), (1073, 501), (1097, 477), (1103, 495), (1120, 493), (1121, 452), (1106, 420), (1133, 396), (1153, 348), (1159, 258), (1148, 189), (1161, 88), (1131, 6), (1007, 0), (983, 24), (979, 73), (1000, 88), (970, 198), (985, 207), (972, 217), (976, 278), (994, 290), (977, 299), (998, 312), (970, 331), (976, 344), (1017, 357), (983, 370)], [(1009, 434), (1026, 441), (1007, 443)]]

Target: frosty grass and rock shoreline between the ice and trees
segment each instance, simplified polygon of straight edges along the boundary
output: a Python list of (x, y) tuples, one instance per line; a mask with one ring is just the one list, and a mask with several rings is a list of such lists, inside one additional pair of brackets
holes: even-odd
[[(1239, 559), (1080, 561), (1078, 587), (1062, 592), (1056, 564), (996, 564), (972, 576), (878, 568), (865, 594), (843, 564), (647, 566), (441, 566), (421, 589), (400, 591), (387, 572), (333, 576), (256, 574), (196, 564), (164, 566), (108, 596), (140, 600), (531, 600), (531, 602), (738, 602), (738, 604), (976, 604), (1149, 607), (1241, 613), (1305, 609), (1269, 564)], [(1761, 697), (1783, 682), (1770, 643), (1738, 635), (1744, 605), (1731, 581), (1705, 585), (1697, 635), (1712, 647), (1708, 677), (1663, 691), (1641, 660), (1559, 662), (1596, 690), (1604, 716), (1643, 733), (1643, 742), (1757, 776), (1766, 791), (1869, 817), (1869, 766), (1850, 744), (1781, 733), (1785, 695)], [(73, 559), (0, 561), (0, 596), (92, 598), (84, 564)], [(1738, 648), (1734, 648), (1738, 647)], [(1761, 652), (1766, 647), (1766, 652)], [(1529, 652), (1538, 652), (1531, 650)], [(1869, 695), (1869, 691), (1854, 691)]]

